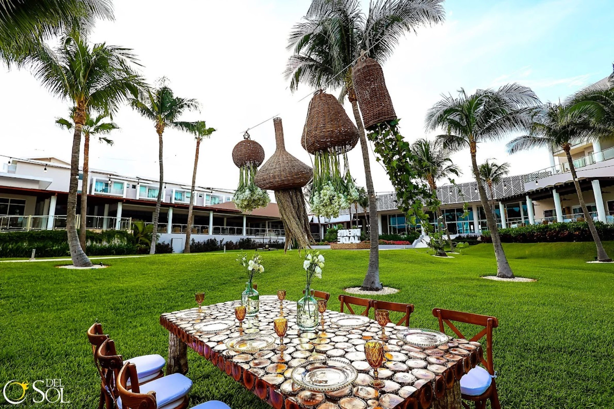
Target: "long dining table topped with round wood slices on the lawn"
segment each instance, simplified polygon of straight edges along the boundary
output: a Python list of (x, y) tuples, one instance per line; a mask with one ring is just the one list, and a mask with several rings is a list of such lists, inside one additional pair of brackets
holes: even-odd
[[(450, 337), (437, 348), (408, 345), (395, 336), (407, 327), (391, 323), (386, 327), (389, 339), (383, 341), (385, 362), (378, 371), (386, 384), (378, 390), (369, 386), (373, 369), (363, 352), (367, 341), (379, 340), (382, 329), (376, 321), (340, 327), (331, 319), (343, 313), (327, 310), (322, 314), (324, 330), (319, 325), (314, 332), (302, 332), (296, 324), (297, 303), (286, 300), (281, 310), (276, 296), (261, 295), (257, 316), (248, 317), (239, 330), (234, 308), (240, 304), (229, 301), (203, 307), (201, 313), (193, 308), (161, 314), (160, 324), (169, 331), (167, 374), (187, 373), (189, 347), (275, 409), (461, 409), (460, 379), (483, 357), (480, 343)], [(246, 333), (276, 337), (273, 319), (281, 314), (289, 322), (284, 337), (288, 349), (283, 353), (275, 346), (251, 354), (227, 347), (227, 340)], [(235, 324), (217, 333), (199, 331), (198, 324), (210, 319)], [(354, 383), (328, 392), (309, 391), (293, 383), (293, 368), (327, 359), (340, 359), (356, 368)]]

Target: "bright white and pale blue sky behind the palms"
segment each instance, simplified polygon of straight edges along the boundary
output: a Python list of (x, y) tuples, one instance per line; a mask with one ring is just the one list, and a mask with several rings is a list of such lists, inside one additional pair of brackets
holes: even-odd
[[(290, 52), (292, 25), (309, 0), (115, 0), (115, 20), (100, 21), (91, 42), (134, 50), (150, 83), (168, 77), (177, 96), (196, 98), (200, 112), (182, 120), (205, 120), (217, 131), (201, 144), (197, 184), (234, 189), (238, 169), (231, 151), (247, 128), (262, 144), (266, 158), (275, 149), (273, 116), (283, 120), (286, 149), (311, 164), (300, 146), (309, 95), (300, 85), (292, 93), (282, 76)], [(368, 9), (368, 1), (363, 1)], [(612, 72), (614, 42), (611, 0), (447, 0), (446, 21), (402, 38), (383, 66), (403, 136), (408, 141), (432, 138), (424, 131), (427, 109), (441, 94), (460, 88), (499, 87), (510, 82), (531, 87), (542, 101), (558, 101)], [(43, 88), (27, 70), (0, 68), (0, 155), (70, 159), (72, 133), (56, 127), (69, 104)], [(328, 90), (333, 94), (338, 90)], [(306, 97), (306, 98), (305, 98)], [(301, 100), (302, 99), (302, 100)], [(353, 120), (351, 107), (344, 107)], [(114, 117), (119, 131), (113, 146), (92, 141), (90, 168), (129, 176), (157, 177), (158, 139), (153, 123), (130, 107)], [(510, 174), (550, 166), (545, 149), (508, 155), (505, 142), (478, 148), (478, 163), (487, 158), (510, 162)], [(164, 134), (165, 180), (189, 184), (195, 141), (181, 131)], [(372, 155), (372, 150), (371, 150)], [(0, 160), (8, 160), (0, 157)], [(467, 151), (453, 155), (463, 171), (457, 182), (472, 180)], [(365, 184), (360, 147), (349, 153), (351, 173)], [(391, 192), (384, 169), (371, 157), (377, 192)]]

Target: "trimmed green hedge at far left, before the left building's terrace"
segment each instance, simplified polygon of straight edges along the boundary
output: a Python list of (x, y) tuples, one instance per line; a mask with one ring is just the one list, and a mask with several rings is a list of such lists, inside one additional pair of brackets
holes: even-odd
[[(87, 255), (136, 254), (134, 236), (125, 231), (88, 231), (86, 238)], [(36, 249), (36, 257), (70, 256), (66, 230), (0, 233), (0, 258), (30, 257), (32, 249)]]

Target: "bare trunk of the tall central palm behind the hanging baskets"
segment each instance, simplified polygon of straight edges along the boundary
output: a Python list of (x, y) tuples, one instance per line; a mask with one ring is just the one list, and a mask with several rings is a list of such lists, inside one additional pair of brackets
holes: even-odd
[(373, 189), (373, 179), (371, 178), (371, 165), (369, 163), (367, 138), (365, 138), (365, 125), (363, 125), (362, 118), (360, 117), (354, 89), (349, 90), (348, 96), (352, 104), (352, 112), (354, 112), (354, 120), (356, 120), (358, 134), (360, 136), (360, 149), (362, 150), (362, 162), (365, 165), (365, 179), (367, 181), (367, 195), (369, 197), (369, 238), (371, 240), (371, 251), (369, 252), (369, 267), (367, 269), (367, 275), (362, 282), (362, 288), (379, 291), (383, 289), (383, 286), (381, 282), (379, 282), (378, 203), (375, 197), (375, 189)]

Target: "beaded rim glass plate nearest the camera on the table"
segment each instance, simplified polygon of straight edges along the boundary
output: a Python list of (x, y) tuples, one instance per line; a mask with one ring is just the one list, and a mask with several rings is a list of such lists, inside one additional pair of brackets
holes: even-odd
[[(331, 380), (330, 376), (335, 379)], [(338, 359), (327, 359), (325, 362), (315, 363), (306, 362), (292, 370), (292, 381), (309, 391), (338, 391), (354, 383), (357, 377), (356, 368)]]

